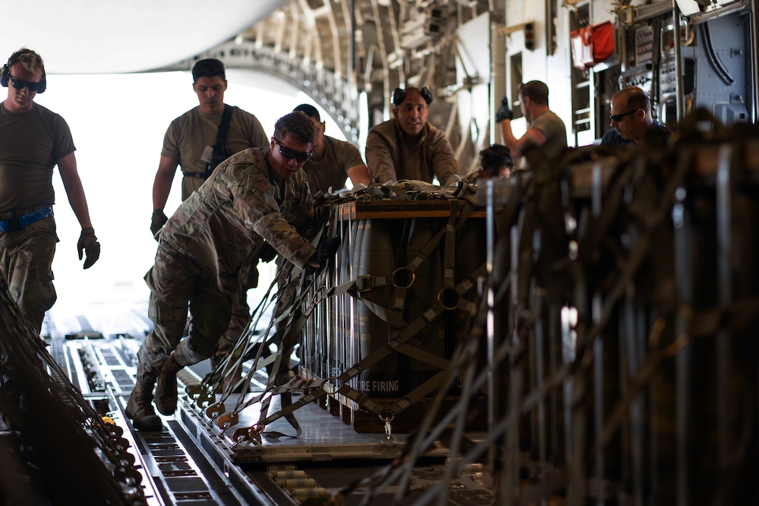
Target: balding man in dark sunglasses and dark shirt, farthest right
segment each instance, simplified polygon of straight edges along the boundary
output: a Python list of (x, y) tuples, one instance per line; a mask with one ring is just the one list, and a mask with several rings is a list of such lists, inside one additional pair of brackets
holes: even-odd
[(651, 101), (637, 86), (626, 87), (612, 96), (609, 112), (612, 129), (603, 134), (601, 144), (647, 144), (669, 137), (672, 131), (651, 116)]

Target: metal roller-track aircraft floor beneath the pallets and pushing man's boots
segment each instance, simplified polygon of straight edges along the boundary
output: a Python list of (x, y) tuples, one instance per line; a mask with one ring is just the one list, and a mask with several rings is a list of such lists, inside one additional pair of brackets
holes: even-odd
[[(129, 451), (137, 457), (146, 504), (304, 504), (309, 498), (326, 504), (323, 501), (329, 496), (383, 470), (408, 440), (408, 434), (394, 434), (395, 439), (389, 440), (383, 434), (358, 433), (310, 403), (295, 413), (303, 430), (299, 437), (264, 435), (258, 445), (235, 444), (235, 430), (254, 424), (260, 408), (247, 407), (238, 424), (219, 429), (184, 394), (183, 381), (200, 381), (207, 372), (208, 365), (203, 363), (185, 368), (179, 376), (178, 410), (174, 416), (162, 417), (162, 431), (135, 431), (124, 408), (134, 386), (143, 319), (124, 318), (124, 328), (108, 335), (99, 333), (99, 324), (86, 318), (71, 318), (65, 325), (60, 322), (48, 322), (56, 329), (46, 339), (51, 356), (83, 397), (124, 429), (124, 438), (131, 442)], [(248, 395), (256, 394), (266, 382), (263, 375), (255, 379)], [(226, 405), (234, 406), (238, 397), (231, 396)], [(272, 400), (269, 413), (279, 410), (278, 400)], [(285, 419), (266, 429), (294, 435)], [(431, 484), (439, 482), (447, 456), (445, 447), (436, 447), (417, 461), (405, 492), (398, 494), (398, 487), (391, 486), (369, 504), (414, 504)], [(481, 471), (468, 466), (456, 476), (449, 485), (452, 492), (447, 504), (492, 504), (493, 493), (479, 481)], [(361, 504), (370, 492), (366, 487), (351, 488), (342, 504)]]

